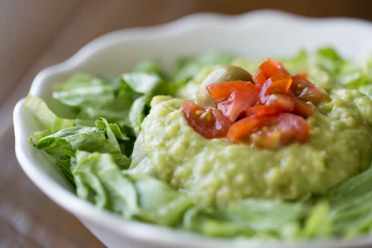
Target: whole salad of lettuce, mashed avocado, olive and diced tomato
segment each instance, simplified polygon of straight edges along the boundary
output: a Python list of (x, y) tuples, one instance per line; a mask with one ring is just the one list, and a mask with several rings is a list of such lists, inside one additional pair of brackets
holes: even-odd
[(56, 83), (27, 96), (30, 142), (97, 208), (224, 238), (372, 232), (372, 59), (209, 52)]

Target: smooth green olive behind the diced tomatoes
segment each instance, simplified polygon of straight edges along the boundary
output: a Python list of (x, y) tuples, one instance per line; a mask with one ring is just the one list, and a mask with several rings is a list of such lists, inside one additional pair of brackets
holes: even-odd
[(199, 87), (198, 103), (204, 107), (216, 108), (217, 106), (213, 102), (206, 87), (211, 84), (216, 84), (217, 82), (229, 82), (236, 80), (252, 81), (252, 75), (243, 68), (234, 65), (228, 65), (213, 70), (203, 80)]

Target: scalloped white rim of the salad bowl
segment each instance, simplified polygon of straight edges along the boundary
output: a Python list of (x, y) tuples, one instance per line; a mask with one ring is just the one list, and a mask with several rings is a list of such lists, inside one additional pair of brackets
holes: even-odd
[[(51, 74), (67, 71), (79, 64), (84, 63), (89, 59), (89, 56), (95, 51), (114, 44), (116, 42), (131, 40), (133, 38), (151, 38), (156, 36), (167, 36), (174, 35), (176, 33), (187, 32), (189, 29), (193, 29), (200, 22), (203, 23), (223, 23), (226, 25), (227, 22), (245, 22), (248, 20), (254, 20), (256, 18), (270, 17), (280, 20), (291, 20), (296, 22), (318, 22), (318, 23), (348, 23), (358, 26), (364, 26), (371, 30), (372, 24), (368, 21), (363, 21), (359, 19), (351, 18), (307, 18), (296, 16), (293, 14), (284, 13), (281, 11), (273, 10), (260, 10), (253, 11), (246, 14), (238, 16), (228, 16), (223, 14), (215, 13), (198, 13), (189, 16), (185, 16), (178, 20), (170, 23), (162, 24), (154, 27), (140, 27), (140, 28), (129, 28), (124, 30), (118, 30), (106, 35), (103, 35), (95, 40), (92, 40), (84, 47), (82, 47), (78, 52), (76, 52), (69, 59), (49, 66), (42, 71), (40, 71), (32, 82), (30, 93), (33, 95), (40, 95), (41, 89), (45, 83), (45, 78)], [(21, 99), (14, 108), (13, 121), (14, 130), (22, 130), (24, 124), (22, 123), (22, 108), (24, 108), (25, 98)], [(372, 244), (372, 237), (366, 236), (355, 240), (340, 242), (337, 239), (331, 240), (307, 240), (298, 242), (271, 242), (259, 239), (220, 239), (205, 237), (198, 234), (193, 234), (190, 232), (185, 232), (177, 229), (171, 229), (166, 227), (161, 227), (153, 224), (142, 223), (137, 221), (125, 220), (121, 216), (111, 213), (106, 210), (98, 209), (94, 205), (79, 199), (75, 194), (68, 192), (57, 182), (48, 177), (46, 173), (42, 170), (33, 166), (33, 161), (28, 157), (22, 146), (23, 138), (20, 133), (15, 132), (15, 150), (17, 159), (26, 173), (26, 175), (32, 180), (32, 182), (37, 185), (37, 187), (44, 192), (49, 198), (51, 198), (58, 205), (66, 209), (67, 211), (73, 213), (79, 218), (88, 220), (96, 225), (103, 226), (112, 232), (118, 233), (123, 237), (139, 239), (148, 243), (164, 244), (164, 245), (183, 245), (185, 247), (255, 247), (257, 244), (269, 244), (267, 247), (313, 247), (313, 245), (321, 245), (322, 247), (333, 247), (337, 245), (338, 247), (346, 246), (359, 246)], [(193, 239), (193, 243), (190, 243), (190, 239)]]

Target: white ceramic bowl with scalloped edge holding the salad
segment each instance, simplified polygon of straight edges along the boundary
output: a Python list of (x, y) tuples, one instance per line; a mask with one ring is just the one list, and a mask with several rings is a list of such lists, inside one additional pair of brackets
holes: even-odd
[[(157, 27), (104, 35), (70, 59), (42, 70), (32, 82), (30, 93), (50, 102), (53, 84), (74, 72), (119, 75), (148, 58), (156, 58), (165, 68), (170, 68), (177, 57), (206, 50), (227, 50), (246, 57), (264, 58), (293, 55), (300, 48), (314, 49), (322, 45), (331, 45), (346, 57), (363, 57), (372, 52), (372, 24), (343, 18), (310, 19), (276, 11), (240, 16), (191, 15)], [(47, 196), (74, 214), (109, 247), (361, 247), (372, 244), (372, 237), (368, 236), (348, 242), (224, 240), (127, 221), (99, 210), (77, 198), (52, 159), (29, 143), (32, 132), (41, 126), (24, 103), (25, 99), (20, 100), (14, 109), (16, 155), (23, 170)]]

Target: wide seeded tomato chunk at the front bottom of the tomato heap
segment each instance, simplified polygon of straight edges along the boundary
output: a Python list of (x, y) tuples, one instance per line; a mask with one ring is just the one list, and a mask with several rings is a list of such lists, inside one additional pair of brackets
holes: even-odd
[(291, 142), (309, 140), (310, 124), (302, 117), (282, 113), (278, 116), (250, 116), (231, 125), (226, 138), (246, 141), (261, 148), (278, 148)]

